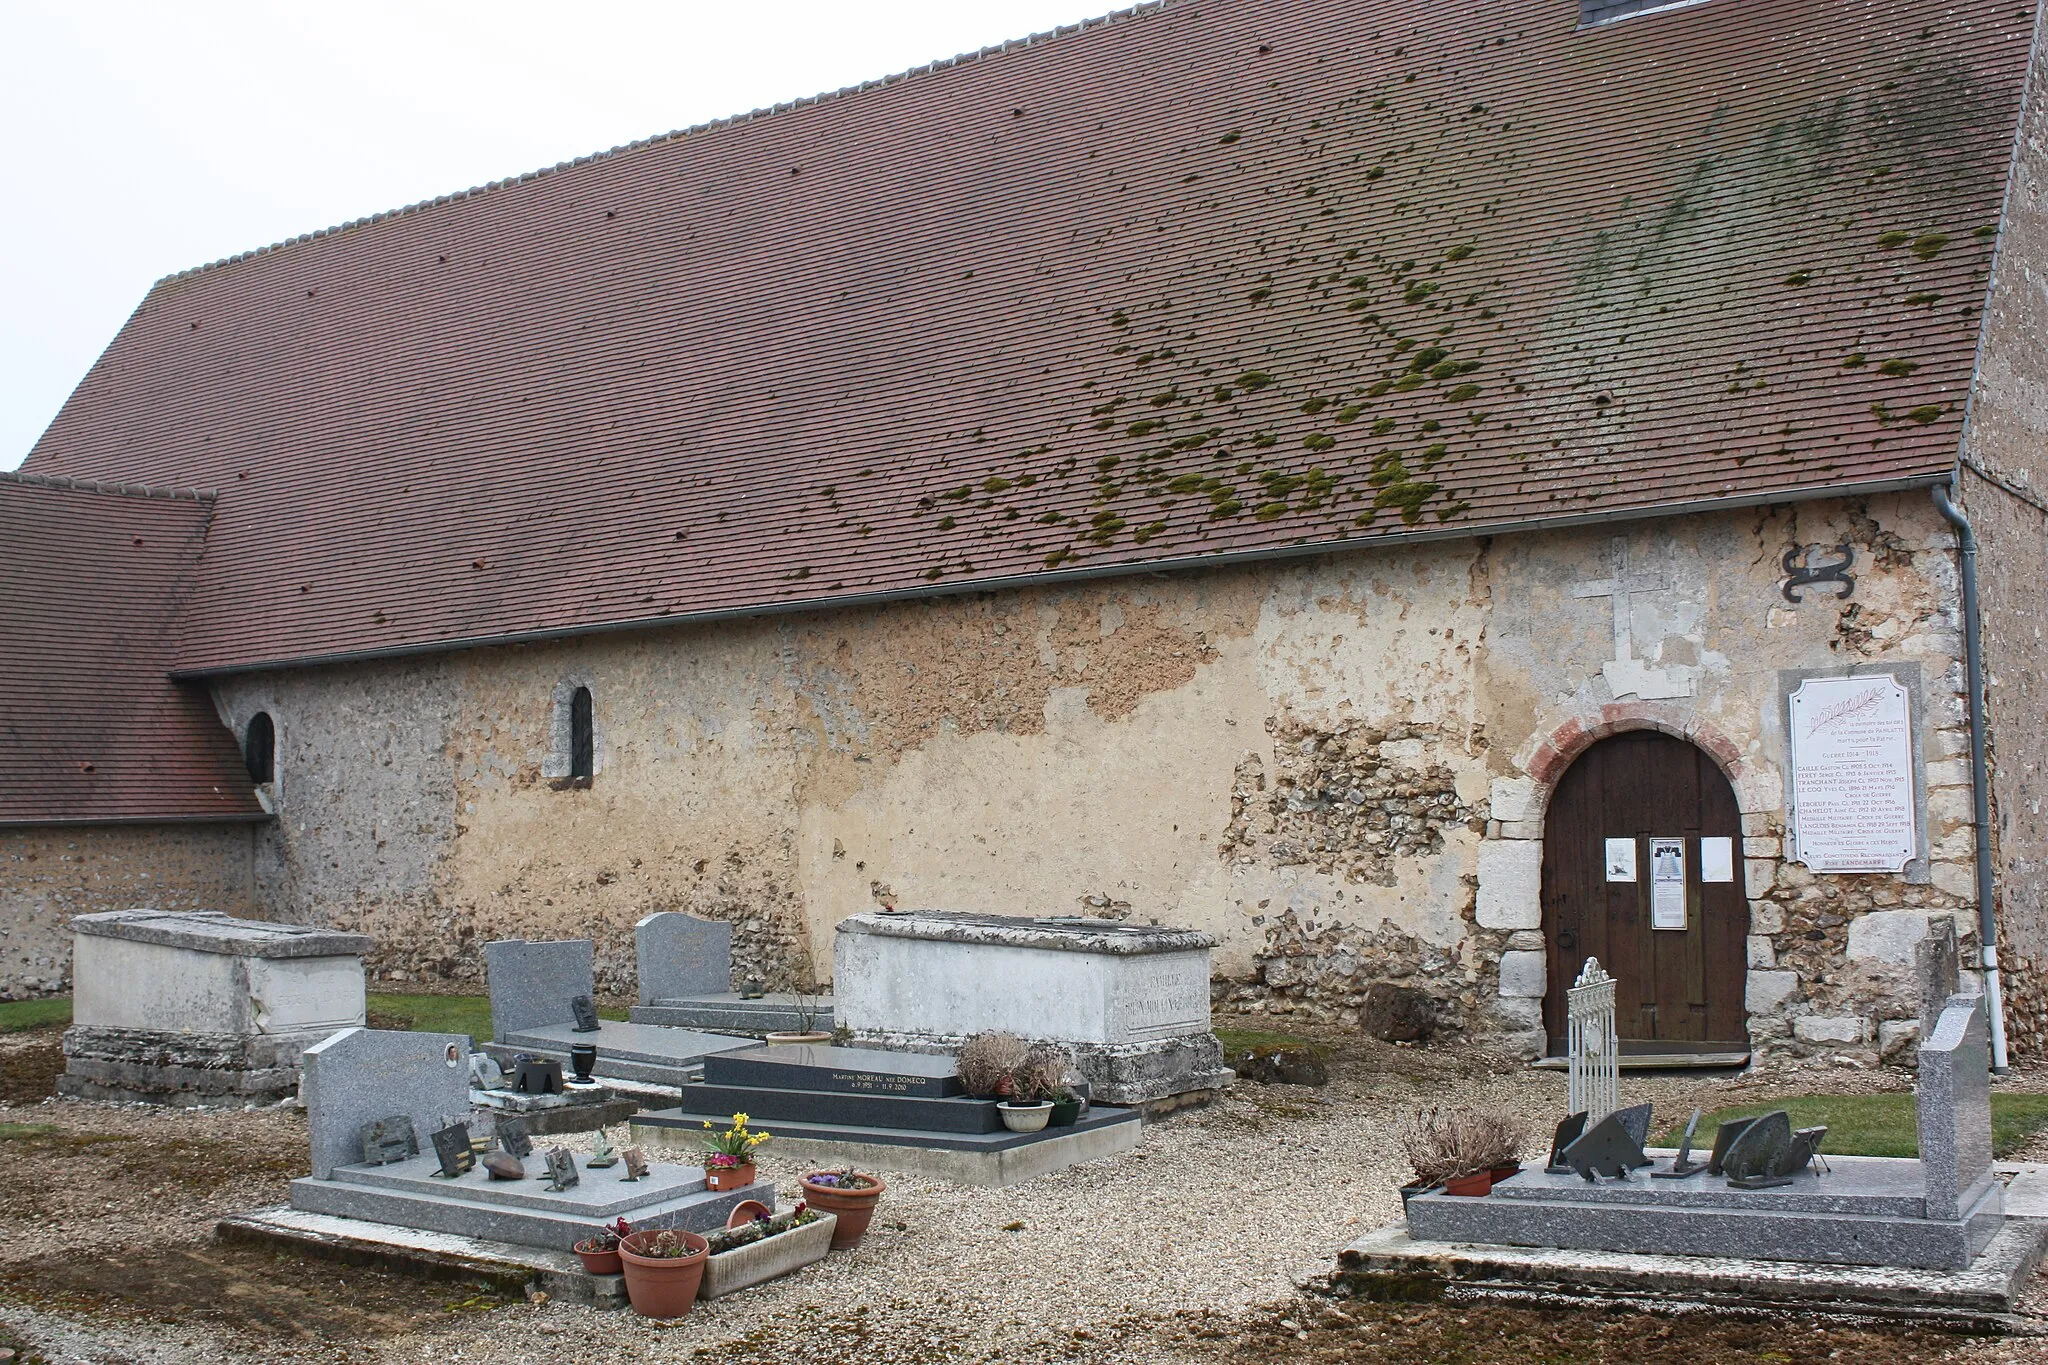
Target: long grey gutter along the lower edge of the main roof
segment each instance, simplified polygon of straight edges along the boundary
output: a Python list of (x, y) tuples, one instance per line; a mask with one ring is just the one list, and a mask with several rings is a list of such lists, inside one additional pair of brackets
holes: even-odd
[(1649, 522), (1665, 516), (1704, 516), (1714, 512), (1739, 512), (1743, 508), (1769, 508), (1792, 501), (1821, 501), (1827, 497), (1872, 497), (1878, 493), (1901, 493), (1950, 483), (1952, 471), (1907, 475), (1898, 479), (1876, 479), (1866, 483), (1808, 485), (1798, 489), (1765, 489), (1739, 497), (1704, 497), (1679, 503), (1655, 503), (1647, 508), (1620, 508), (1614, 512), (1579, 512), (1571, 516), (1522, 518), (1511, 522), (1489, 522), (1481, 526), (1446, 526), (1442, 530), (1382, 532), (1378, 536), (1348, 536), (1343, 540), (1317, 540), (1313, 544), (1260, 546), (1251, 551), (1229, 551), (1221, 555), (1184, 555), (1180, 559), (1133, 561), (1118, 565), (1094, 565), (1085, 569), (1055, 569), (1042, 573), (1022, 573), (991, 579), (965, 579), (946, 585), (895, 587), (887, 591), (850, 593), (838, 598), (801, 598), (795, 602), (760, 602), (750, 606), (717, 608), (705, 612), (678, 612), (672, 616), (641, 616), (633, 620), (598, 622), (590, 626), (553, 626), (547, 630), (510, 630), (502, 634), (481, 634), (451, 641), (424, 641), (418, 645), (393, 645), (387, 649), (352, 649), (322, 655), (301, 655), (291, 659), (264, 659), (260, 663), (233, 663), (217, 667), (172, 667), (174, 681), (205, 681), (213, 677), (233, 677), (240, 673), (274, 673), (283, 669), (334, 667), (344, 663), (369, 663), (377, 659), (412, 659), (420, 655), (444, 655), (461, 649), (496, 649), (500, 645), (539, 645), (545, 641), (565, 641), (584, 634), (614, 634), (618, 630), (662, 630), (670, 626), (702, 626), (721, 620), (745, 620), (760, 616), (791, 616), (797, 612), (838, 612), (848, 608), (881, 606), (889, 602), (911, 602), (930, 598), (958, 598), (965, 593), (1012, 591), (1026, 587), (1053, 587), (1059, 583), (1079, 583), (1090, 579), (1135, 577), (1139, 573), (1184, 573), (1190, 569), (1221, 569), (1229, 565), (1270, 563), (1282, 559), (1313, 559), (1319, 555), (1348, 555), (1395, 544), (1423, 544), (1430, 540), (1477, 540), (1481, 536), (1511, 536), (1528, 532), (1569, 530), (1575, 526), (1602, 526), (1614, 522)]

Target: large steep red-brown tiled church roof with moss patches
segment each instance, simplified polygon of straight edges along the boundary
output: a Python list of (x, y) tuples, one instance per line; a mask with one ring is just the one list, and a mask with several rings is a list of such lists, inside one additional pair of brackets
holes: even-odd
[(2032, 8), (1171, 0), (160, 282), (184, 671), (1898, 487)]

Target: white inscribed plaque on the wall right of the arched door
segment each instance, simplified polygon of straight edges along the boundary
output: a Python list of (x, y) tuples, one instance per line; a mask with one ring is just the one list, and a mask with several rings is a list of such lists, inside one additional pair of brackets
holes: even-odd
[(1792, 694), (1792, 857), (1903, 872), (1917, 847), (1907, 690), (1890, 673), (1808, 677)]

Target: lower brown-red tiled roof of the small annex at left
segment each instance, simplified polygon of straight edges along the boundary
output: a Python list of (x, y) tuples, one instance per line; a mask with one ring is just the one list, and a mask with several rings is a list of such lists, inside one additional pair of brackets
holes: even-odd
[(211, 510), (0, 473), (0, 825), (262, 817), (205, 690), (168, 673)]

